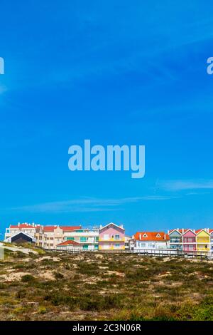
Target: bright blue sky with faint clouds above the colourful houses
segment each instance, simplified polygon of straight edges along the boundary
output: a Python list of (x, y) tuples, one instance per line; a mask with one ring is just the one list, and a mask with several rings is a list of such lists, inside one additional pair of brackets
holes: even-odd
[[(17, 3), (16, 3), (17, 2)], [(213, 4), (1, 0), (0, 227), (212, 227)], [(70, 145), (146, 145), (146, 176)]]

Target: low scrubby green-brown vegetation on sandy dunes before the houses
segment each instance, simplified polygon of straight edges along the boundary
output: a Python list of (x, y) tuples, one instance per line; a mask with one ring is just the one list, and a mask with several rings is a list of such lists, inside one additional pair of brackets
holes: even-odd
[(213, 320), (212, 284), (212, 261), (6, 251), (0, 319)]

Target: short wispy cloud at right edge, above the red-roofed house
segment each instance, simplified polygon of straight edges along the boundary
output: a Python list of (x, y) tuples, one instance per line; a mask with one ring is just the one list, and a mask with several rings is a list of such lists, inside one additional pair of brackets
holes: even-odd
[(165, 191), (212, 190), (213, 180), (166, 180), (158, 182), (158, 187)]

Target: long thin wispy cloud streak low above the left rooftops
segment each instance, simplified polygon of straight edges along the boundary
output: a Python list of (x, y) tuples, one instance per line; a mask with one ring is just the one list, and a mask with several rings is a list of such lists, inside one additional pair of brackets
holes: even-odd
[(11, 210), (23, 212), (104, 212), (121, 210), (123, 205), (148, 200), (170, 200), (170, 196), (145, 195), (143, 197), (124, 197), (119, 199), (98, 199), (84, 197), (80, 199), (43, 202), (36, 205), (12, 207)]

